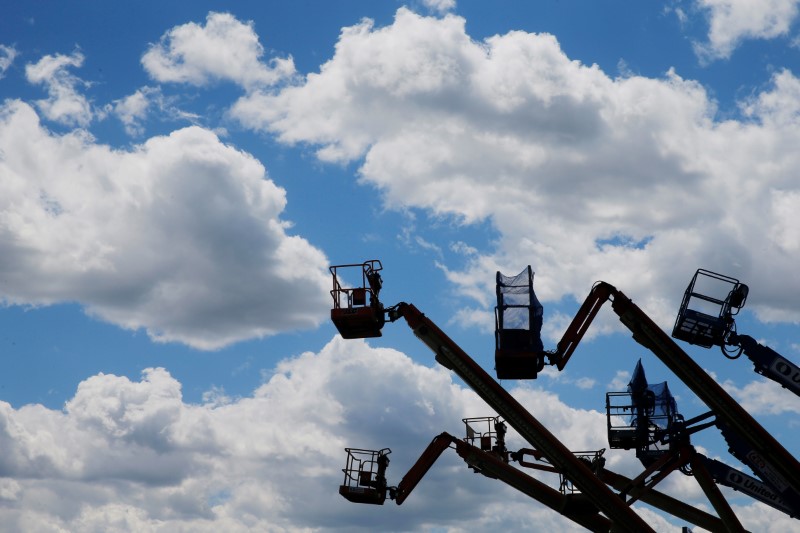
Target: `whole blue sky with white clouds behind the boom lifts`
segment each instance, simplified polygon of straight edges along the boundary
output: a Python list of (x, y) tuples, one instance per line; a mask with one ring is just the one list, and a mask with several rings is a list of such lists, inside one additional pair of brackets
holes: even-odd
[[(595, 281), (669, 331), (707, 268), (750, 286), (740, 333), (800, 360), (798, 9), (5, 6), (0, 523), (571, 530), (448, 456), (402, 507), (336, 494), (345, 446), (391, 447), (396, 483), (434, 435), (490, 413), (402, 324), (339, 339), (327, 267), (382, 260), (384, 302), (413, 302), (487, 369), (497, 270), (532, 265), (553, 347)], [(686, 349), (800, 453), (797, 397)], [(640, 357), (687, 417), (705, 411), (609, 310), (564, 372), (504, 385), (598, 449), (604, 393)], [(714, 431), (693, 442), (744, 469)], [(691, 478), (663, 488), (709, 507)], [(726, 495), (750, 530), (796, 527)]]

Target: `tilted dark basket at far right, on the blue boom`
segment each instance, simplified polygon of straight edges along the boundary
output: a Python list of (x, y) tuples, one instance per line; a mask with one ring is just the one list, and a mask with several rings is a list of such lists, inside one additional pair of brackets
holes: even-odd
[(672, 336), (703, 348), (724, 346), (747, 293), (738, 279), (698, 269), (683, 295)]

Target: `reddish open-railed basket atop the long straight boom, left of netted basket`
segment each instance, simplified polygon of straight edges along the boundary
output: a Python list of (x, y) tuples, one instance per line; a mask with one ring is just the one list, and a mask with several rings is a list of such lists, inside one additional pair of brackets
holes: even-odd
[[(359, 270), (360, 281), (353, 287), (344, 287), (339, 277), (342, 269)], [(381, 262), (371, 259), (364, 263), (336, 265), (330, 267), (333, 275), (333, 309), (331, 320), (345, 339), (364, 339), (380, 337), (381, 329), (386, 322), (383, 305), (378, 300), (383, 285)]]

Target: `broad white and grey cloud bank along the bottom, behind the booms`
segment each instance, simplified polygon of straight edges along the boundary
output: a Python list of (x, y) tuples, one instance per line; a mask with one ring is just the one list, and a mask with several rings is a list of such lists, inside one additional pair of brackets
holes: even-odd
[[(570, 408), (539, 389), (514, 393), (571, 446), (605, 447), (601, 413)], [(341, 498), (345, 446), (391, 447), (388, 476), (397, 483), (434, 435), (461, 435), (461, 418), (492, 414), (443, 369), (395, 350), (337, 337), (319, 353), (280, 363), (252, 395), (212, 396), (188, 404), (179, 382), (151, 368), (139, 381), (92, 376), (61, 411), (0, 402), (0, 529), (578, 530), (475, 475), (448, 451), (403, 506), (358, 506)], [(510, 446), (524, 446), (516, 439)], [(609, 456), (616, 471), (640, 470), (631, 454)], [(682, 494), (696, 498), (697, 491), (683, 486), (692, 480), (678, 474), (670, 480), (676, 476)], [(768, 516), (767, 529), (755, 529), (791, 528), (790, 519), (763, 506), (740, 511), (746, 527), (764, 525)], [(677, 530), (641, 512), (659, 531)]]

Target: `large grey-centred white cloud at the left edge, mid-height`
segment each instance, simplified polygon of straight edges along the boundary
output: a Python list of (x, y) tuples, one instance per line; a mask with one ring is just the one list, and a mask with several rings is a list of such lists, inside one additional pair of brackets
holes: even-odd
[(0, 298), (79, 302), (202, 349), (324, 318), (323, 253), (287, 233), (285, 192), (249, 154), (189, 127), (131, 150), (0, 108)]

